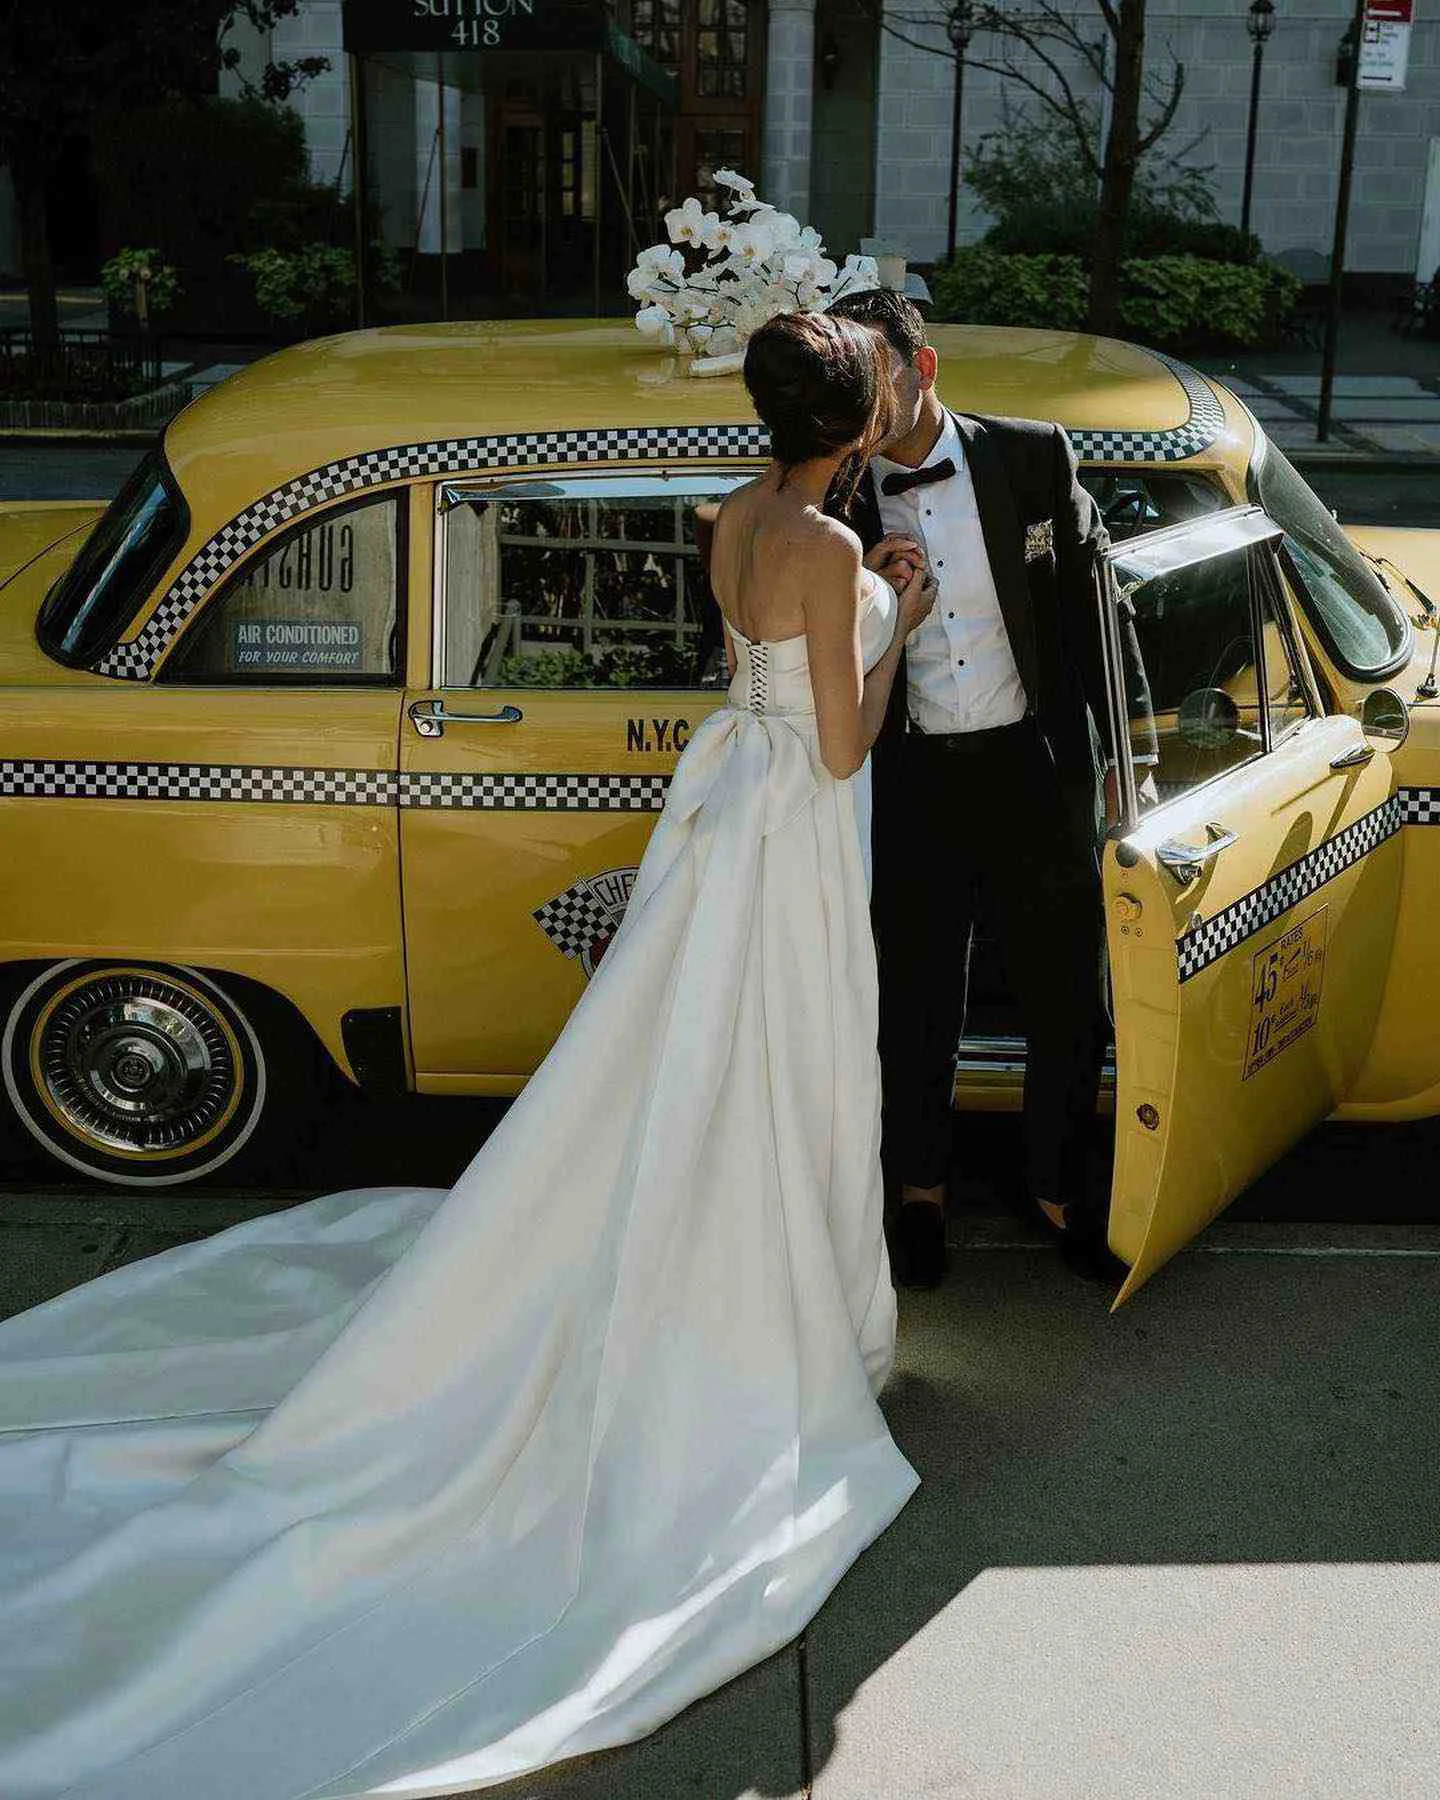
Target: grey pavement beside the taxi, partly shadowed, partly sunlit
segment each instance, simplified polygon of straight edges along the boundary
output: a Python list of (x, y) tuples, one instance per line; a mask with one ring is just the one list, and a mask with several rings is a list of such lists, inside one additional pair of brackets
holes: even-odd
[[(7, 1309), (295, 1197), (4, 1195)], [(805, 1638), (486, 1800), (1433, 1800), (1440, 1226), (1219, 1224), (1116, 1314), (963, 1231), (900, 1296), (920, 1489)]]

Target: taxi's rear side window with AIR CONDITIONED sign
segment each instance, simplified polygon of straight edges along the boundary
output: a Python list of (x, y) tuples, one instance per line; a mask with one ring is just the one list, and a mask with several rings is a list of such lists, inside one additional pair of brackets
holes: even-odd
[(383, 493), (281, 531), (207, 601), (160, 679), (398, 682), (403, 502), (403, 493)]

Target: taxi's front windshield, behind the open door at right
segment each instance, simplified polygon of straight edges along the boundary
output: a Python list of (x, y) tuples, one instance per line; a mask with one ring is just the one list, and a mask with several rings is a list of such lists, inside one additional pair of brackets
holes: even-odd
[(1409, 655), (1409, 619), (1379, 572), (1285, 457), (1265, 446), (1255, 495), (1285, 527), (1283, 554), (1300, 601), (1346, 675), (1391, 675)]

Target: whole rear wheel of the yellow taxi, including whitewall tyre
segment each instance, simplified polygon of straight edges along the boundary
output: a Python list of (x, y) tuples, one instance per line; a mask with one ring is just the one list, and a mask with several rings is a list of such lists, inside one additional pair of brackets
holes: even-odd
[(207, 976), (67, 961), (11, 1001), (5, 1094), (52, 1157), (95, 1181), (167, 1188), (221, 1168), (266, 1111), (250, 1019)]

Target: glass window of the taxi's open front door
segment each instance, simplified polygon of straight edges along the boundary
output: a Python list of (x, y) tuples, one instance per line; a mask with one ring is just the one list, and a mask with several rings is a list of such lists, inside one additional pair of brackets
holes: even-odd
[(1264, 545), (1125, 581), (1121, 630), (1134, 634), (1148, 698), (1130, 700), (1141, 803), (1174, 799), (1262, 756), (1314, 711), (1307, 671)]

